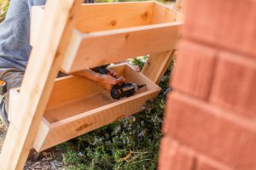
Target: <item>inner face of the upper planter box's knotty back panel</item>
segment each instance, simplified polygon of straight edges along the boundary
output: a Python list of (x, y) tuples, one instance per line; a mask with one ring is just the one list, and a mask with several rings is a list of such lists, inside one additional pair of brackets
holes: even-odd
[(151, 24), (154, 2), (84, 4), (75, 27), (83, 32)]

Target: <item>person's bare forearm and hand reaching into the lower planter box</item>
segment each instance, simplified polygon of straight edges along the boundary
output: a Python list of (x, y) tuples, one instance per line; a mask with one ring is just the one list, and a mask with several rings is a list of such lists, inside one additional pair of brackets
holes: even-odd
[(90, 69), (85, 69), (84, 71), (73, 72), (71, 75), (87, 78), (91, 82), (96, 82), (98, 85), (107, 89), (108, 91), (111, 90), (113, 85), (124, 82), (124, 77), (115, 78), (116, 73), (114, 71), (110, 71), (110, 75), (101, 75), (94, 71), (90, 71)]

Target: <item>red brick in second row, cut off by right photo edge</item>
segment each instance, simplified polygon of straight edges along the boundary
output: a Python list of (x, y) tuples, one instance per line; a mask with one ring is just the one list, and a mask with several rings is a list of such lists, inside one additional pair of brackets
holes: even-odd
[(256, 61), (219, 54), (210, 101), (224, 110), (256, 121)]

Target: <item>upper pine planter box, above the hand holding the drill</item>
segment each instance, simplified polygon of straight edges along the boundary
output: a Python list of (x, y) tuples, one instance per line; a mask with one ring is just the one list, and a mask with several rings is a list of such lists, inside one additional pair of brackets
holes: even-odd
[[(99, 4), (92, 7), (103, 10), (103, 8), (113, 8), (114, 6), (115, 10), (122, 11), (122, 8), (128, 8), (129, 5), (133, 6), (134, 4)], [(65, 53), (65, 59), (61, 65), (61, 69), (67, 73), (80, 71), (86, 67), (91, 68), (112, 62), (121, 62), (134, 56), (156, 54), (175, 48), (177, 41), (181, 37), (179, 30), (183, 24), (183, 21), (180, 21), (183, 19), (183, 15), (160, 3), (149, 2), (136, 4), (138, 6), (137, 8), (141, 8), (138, 4), (147, 4), (146, 7), (148, 8), (143, 8), (139, 14), (135, 15), (142, 17), (142, 11), (148, 10), (147, 17), (151, 17), (149, 25), (138, 26), (135, 24), (135, 21), (131, 22), (128, 20), (124, 25), (124, 27), (126, 26), (125, 28), (109, 30), (109, 26), (106, 23), (102, 24), (101, 22), (97, 24), (97, 21), (94, 20), (96, 31), (93, 31), (94, 28), (91, 28), (90, 30), (92, 31), (87, 33), (73, 31), (73, 37)], [(150, 6), (150, 4), (153, 4), (153, 6)], [(92, 8), (90, 5), (85, 7)], [(150, 8), (152, 12), (150, 12)], [(97, 16), (93, 10), (88, 11), (90, 11), (90, 18), (93, 15)], [(120, 13), (120, 16), (125, 17), (125, 13)], [(115, 20), (111, 14), (105, 14), (104, 17), (99, 14), (99, 18), (106, 17)], [(141, 19), (137, 19), (137, 22), (142, 23), (139, 20)], [(84, 22), (81, 22), (81, 25), (86, 27), (85, 22), (86, 20), (84, 18)], [(145, 22), (143, 24), (147, 23)], [(133, 27), (131, 27), (132, 25)]]

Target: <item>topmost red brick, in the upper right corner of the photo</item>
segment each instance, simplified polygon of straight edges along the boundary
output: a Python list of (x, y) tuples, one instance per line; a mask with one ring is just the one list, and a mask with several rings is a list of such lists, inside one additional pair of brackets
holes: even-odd
[(256, 57), (256, 1), (188, 0), (183, 36)]

